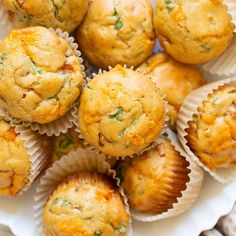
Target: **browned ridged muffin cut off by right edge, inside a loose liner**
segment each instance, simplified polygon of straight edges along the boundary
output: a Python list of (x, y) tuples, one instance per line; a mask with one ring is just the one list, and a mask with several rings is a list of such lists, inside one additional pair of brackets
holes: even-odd
[(212, 171), (236, 167), (235, 86), (214, 90), (188, 125), (188, 145), (202, 163)]

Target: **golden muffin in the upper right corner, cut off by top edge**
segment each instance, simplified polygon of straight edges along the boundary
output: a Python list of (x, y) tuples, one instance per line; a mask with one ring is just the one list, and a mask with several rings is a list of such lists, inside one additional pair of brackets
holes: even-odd
[(199, 64), (222, 54), (234, 25), (222, 0), (156, 1), (154, 26), (162, 47), (176, 60)]

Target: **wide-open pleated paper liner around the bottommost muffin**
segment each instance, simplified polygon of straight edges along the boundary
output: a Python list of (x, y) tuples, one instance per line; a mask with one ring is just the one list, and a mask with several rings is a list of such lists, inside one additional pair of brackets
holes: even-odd
[[(127, 198), (122, 188), (119, 187), (120, 181), (116, 178), (115, 171), (110, 169), (110, 165), (105, 161), (104, 156), (97, 155), (89, 149), (78, 148), (76, 151), (63, 156), (59, 161), (56, 161), (40, 179), (40, 183), (36, 188), (33, 207), (35, 223), (40, 235), (43, 235), (42, 212), (48, 197), (62, 179), (78, 171), (95, 171), (101, 174), (106, 174), (110, 178), (114, 179), (123, 198), (125, 209), (128, 214), (130, 214)], [(131, 235), (132, 227), (130, 218), (127, 236)]]

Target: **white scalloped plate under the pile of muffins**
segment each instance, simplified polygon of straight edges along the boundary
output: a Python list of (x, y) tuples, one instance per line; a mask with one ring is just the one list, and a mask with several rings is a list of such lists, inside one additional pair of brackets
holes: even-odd
[[(153, 1), (154, 2), (154, 1)], [(0, 18), (3, 14), (0, 0)], [(0, 23), (0, 40), (6, 35), (9, 25)], [(209, 77), (209, 81), (219, 77)], [(152, 223), (134, 222), (135, 236), (198, 236), (212, 228), (220, 216), (227, 214), (236, 200), (236, 180), (221, 185), (206, 176), (198, 200), (193, 207), (177, 217)], [(8, 226), (17, 236), (39, 236), (33, 220), (33, 193), (35, 185), (23, 196), (11, 199), (0, 198), (0, 224)], [(2, 236), (1, 232), (0, 235)]]

